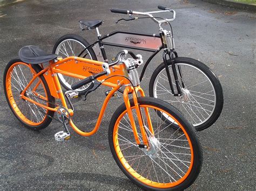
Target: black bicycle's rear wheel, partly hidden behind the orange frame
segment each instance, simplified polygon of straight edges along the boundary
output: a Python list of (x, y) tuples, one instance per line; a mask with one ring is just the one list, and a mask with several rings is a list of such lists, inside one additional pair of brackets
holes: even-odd
[[(52, 53), (58, 54), (63, 58), (69, 56), (78, 56), (89, 45), (90, 44), (83, 37), (76, 34), (66, 34), (57, 40), (55, 46), (53, 47)], [(95, 52), (91, 47), (86, 49), (86, 51), (84, 51), (80, 57), (90, 60), (97, 60)], [(58, 74), (58, 77), (60, 84), (62, 84), (62, 86), (67, 90), (71, 90), (71, 85), (73, 83), (80, 81), (80, 79), (75, 77), (65, 76), (62, 74)], [(91, 83), (88, 83), (85, 86), (76, 89), (79, 95), (85, 94), (85, 90), (90, 86), (90, 84)]]

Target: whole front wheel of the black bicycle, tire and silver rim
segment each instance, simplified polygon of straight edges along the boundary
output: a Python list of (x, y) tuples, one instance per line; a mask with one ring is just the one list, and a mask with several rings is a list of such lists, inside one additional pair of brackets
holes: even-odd
[[(177, 90), (170, 60), (167, 63), (173, 88)], [(150, 96), (174, 105), (197, 131), (204, 130), (218, 119), (223, 109), (221, 84), (212, 70), (198, 60), (179, 57), (174, 59), (174, 63), (181, 96), (173, 96), (164, 63), (153, 72), (149, 86)]]

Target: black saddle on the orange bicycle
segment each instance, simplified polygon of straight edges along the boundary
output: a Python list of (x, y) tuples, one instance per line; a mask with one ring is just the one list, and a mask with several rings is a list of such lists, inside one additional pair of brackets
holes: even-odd
[(47, 54), (37, 46), (24, 46), (19, 50), (19, 58), (25, 63), (44, 63), (56, 59), (57, 54)]

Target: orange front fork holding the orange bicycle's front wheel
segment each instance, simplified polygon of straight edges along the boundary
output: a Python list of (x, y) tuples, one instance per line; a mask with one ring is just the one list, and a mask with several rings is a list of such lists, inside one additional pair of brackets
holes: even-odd
[[(130, 104), (129, 96), (128, 96), (130, 91), (132, 91), (134, 107), (135, 107), (135, 110), (136, 110), (136, 115), (138, 117), (139, 129), (140, 129), (140, 132), (142, 133), (142, 139), (138, 136), (138, 131), (137, 131), (136, 124), (135, 124), (135, 121), (134, 121), (134, 117), (133, 117), (133, 114), (132, 114), (132, 108), (131, 108), (131, 104)], [(143, 91), (142, 88), (135, 87), (133, 89), (133, 88), (130, 88), (130, 87), (126, 87), (125, 90), (124, 90), (124, 94), (123, 94), (124, 103), (125, 103), (125, 107), (126, 107), (126, 110), (127, 110), (128, 117), (129, 117), (130, 122), (131, 122), (131, 127), (132, 127), (132, 131), (133, 131), (134, 139), (136, 140), (137, 145), (139, 147), (143, 146), (144, 148), (148, 148), (149, 147), (148, 137), (151, 136), (151, 135), (154, 135), (154, 131), (153, 131), (153, 127), (152, 127), (151, 118), (150, 118), (148, 108), (144, 108), (146, 118), (143, 119), (143, 117), (142, 117), (142, 110), (139, 107), (139, 103), (138, 103), (138, 99), (137, 99), (137, 93), (138, 92), (140, 93), (140, 95), (142, 97), (145, 97), (145, 94), (144, 94), (144, 91)], [(148, 127), (145, 126), (144, 120), (147, 120)], [(149, 128), (149, 132), (146, 130), (146, 128)]]

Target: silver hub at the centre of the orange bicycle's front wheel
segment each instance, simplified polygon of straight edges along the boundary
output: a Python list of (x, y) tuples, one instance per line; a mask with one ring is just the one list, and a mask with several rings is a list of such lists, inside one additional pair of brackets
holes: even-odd
[(148, 139), (149, 148), (143, 148), (145, 154), (147, 154), (150, 158), (158, 158), (160, 152), (160, 142), (157, 140), (156, 137), (151, 136)]

